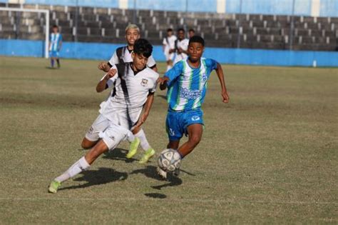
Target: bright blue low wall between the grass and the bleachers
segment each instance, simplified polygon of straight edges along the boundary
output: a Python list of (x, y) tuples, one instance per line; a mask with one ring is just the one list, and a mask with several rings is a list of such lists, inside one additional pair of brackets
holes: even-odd
[[(108, 60), (121, 44), (63, 42), (61, 58)], [(0, 55), (43, 57), (44, 42), (0, 39)], [(154, 46), (153, 56), (165, 61), (162, 46)], [(205, 57), (222, 64), (265, 66), (334, 66), (338, 67), (337, 51), (287, 51), (264, 49), (205, 49)]]

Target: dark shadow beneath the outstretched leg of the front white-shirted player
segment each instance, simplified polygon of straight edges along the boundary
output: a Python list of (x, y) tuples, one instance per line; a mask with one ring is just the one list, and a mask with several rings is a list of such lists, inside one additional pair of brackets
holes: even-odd
[(98, 170), (82, 171), (82, 176), (73, 179), (74, 181), (87, 181), (86, 184), (67, 186), (59, 190), (83, 189), (89, 186), (108, 184), (114, 181), (124, 181), (128, 178), (128, 173), (119, 172), (110, 168), (99, 168)]

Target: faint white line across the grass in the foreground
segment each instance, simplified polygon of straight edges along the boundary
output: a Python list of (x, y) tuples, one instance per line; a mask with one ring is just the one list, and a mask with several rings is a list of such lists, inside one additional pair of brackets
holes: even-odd
[[(166, 199), (155, 199), (155, 198), (115, 198), (115, 199), (104, 199), (104, 198), (0, 198), (0, 201), (158, 201)], [(247, 200), (222, 200), (222, 199), (171, 199), (170, 201), (177, 202), (205, 202), (205, 203), (248, 203), (248, 204), (295, 204), (295, 205), (334, 205), (338, 206), (338, 202), (330, 202), (330, 201), (247, 201)]]

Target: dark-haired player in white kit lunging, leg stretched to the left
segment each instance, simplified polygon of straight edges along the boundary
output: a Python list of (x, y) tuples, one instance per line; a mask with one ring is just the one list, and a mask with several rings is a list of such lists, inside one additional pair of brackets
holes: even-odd
[(115, 149), (124, 139), (134, 138), (130, 130), (145, 122), (153, 104), (158, 74), (146, 66), (152, 51), (153, 46), (147, 40), (138, 39), (132, 53), (133, 62), (112, 65), (98, 82), (96, 91), (104, 91), (109, 86), (115, 86), (115, 91), (101, 104), (100, 115), (86, 134), (89, 139), (96, 139), (96, 144), (61, 176), (53, 179), (49, 192), (56, 193), (63, 181), (88, 169), (98, 156)]

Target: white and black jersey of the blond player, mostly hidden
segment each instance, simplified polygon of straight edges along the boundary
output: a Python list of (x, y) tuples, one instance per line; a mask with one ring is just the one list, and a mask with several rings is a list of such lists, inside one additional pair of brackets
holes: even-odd
[[(132, 50), (128, 49), (128, 46), (119, 47), (114, 52), (113, 56), (111, 56), (111, 59), (108, 61), (108, 65), (113, 66), (116, 64), (133, 61), (133, 58), (131, 58), (132, 52), (133, 52)], [(153, 69), (156, 66), (156, 62), (155, 62), (155, 59), (153, 58), (153, 55), (149, 56), (147, 66), (150, 69)]]

